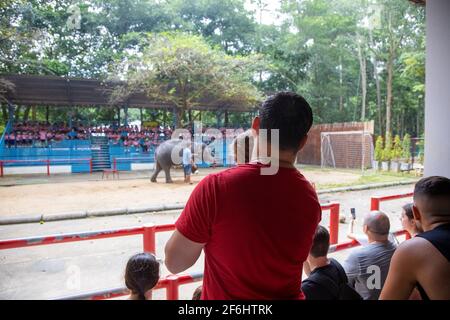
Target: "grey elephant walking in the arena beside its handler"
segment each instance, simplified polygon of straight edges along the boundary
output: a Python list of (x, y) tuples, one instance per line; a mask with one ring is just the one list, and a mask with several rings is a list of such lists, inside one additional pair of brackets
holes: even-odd
[[(158, 177), (158, 174), (161, 172), (161, 170), (164, 170), (164, 173), (166, 175), (166, 183), (173, 183), (172, 178), (170, 176), (170, 168), (175, 165), (179, 165), (180, 163), (174, 163), (174, 159), (172, 159), (172, 152), (174, 149), (175, 154), (178, 152), (178, 155), (180, 157), (180, 161), (182, 159), (183, 154), (183, 148), (188, 145), (189, 141), (182, 140), (182, 139), (170, 139), (167, 141), (164, 141), (161, 143), (155, 150), (155, 170), (153, 172), (153, 175), (150, 179), (151, 182), (157, 182), (156, 178)], [(197, 143), (192, 143), (192, 147), (194, 147), (194, 151), (198, 149)], [(204, 152), (206, 149), (206, 152)], [(178, 151), (179, 150), (179, 151)], [(206, 146), (206, 144), (201, 144), (201, 150), (203, 154), (203, 161), (206, 162), (213, 162), (211, 151)], [(192, 153), (194, 155), (194, 153)]]

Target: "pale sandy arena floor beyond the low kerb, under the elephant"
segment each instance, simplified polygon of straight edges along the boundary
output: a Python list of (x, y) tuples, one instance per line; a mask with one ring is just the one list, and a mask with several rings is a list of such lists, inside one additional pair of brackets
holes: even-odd
[[(123, 172), (120, 179), (102, 179), (101, 173), (54, 176), (6, 176), (0, 179), (0, 216), (61, 213), (80, 210), (143, 208), (157, 204), (185, 203), (198, 182), (223, 168), (200, 169), (193, 185), (183, 183), (181, 170), (172, 170), (173, 184), (150, 182), (150, 172)], [(316, 184), (352, 183), (356, 172), (307, 169), (304, 175)], [(49, 205), (51, 204), (51, 205)]]

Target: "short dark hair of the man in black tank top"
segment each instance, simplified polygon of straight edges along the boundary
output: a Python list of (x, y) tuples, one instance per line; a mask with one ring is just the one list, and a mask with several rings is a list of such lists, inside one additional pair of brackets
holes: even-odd
[(450, 179), (440, 176), (422, 178), (414, 187), (414, 202), (423, 199), (426, 213), (450, 216)]

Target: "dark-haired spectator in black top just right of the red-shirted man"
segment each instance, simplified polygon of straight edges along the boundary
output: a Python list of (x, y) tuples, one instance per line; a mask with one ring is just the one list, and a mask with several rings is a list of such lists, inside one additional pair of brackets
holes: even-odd
[(306, 300), (361, 300), (361, 296), (347, 284), (344, 269), (334, 259), (328, 259), (330, 234), (319, 225), (303, 270), (308, 276), (302, 281)]

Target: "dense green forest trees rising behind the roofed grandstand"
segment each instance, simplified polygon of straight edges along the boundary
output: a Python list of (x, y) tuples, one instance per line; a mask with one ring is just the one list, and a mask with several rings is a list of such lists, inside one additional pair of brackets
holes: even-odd
[[(244, 74), (240, 68), (224, 72), (238, 78), (237, 83), (246, 79), (243, 89), (222, 87), (230, 90), (231, 96), (254, 93), (254, 87), (259, 89), (259, 96), (296, 91), (310, 102), (315, 123), (358, 121), (363, 105), (361, 74), (366, 74), (365, 119), (375, 120), (376, 134), (385, 131), (388, 87), (393, 96), (392, 134), (409, 132), (417, 137), (423, 132), (423, 7), (406, 0), (280, 1), (280, 18), (274, 24), (265, 24), (260, 17), (267, 14), (268, 1), (250, 2), (257, 7), (255, 11), (248, 9), (244, 0), (3, 0), (0, 74), (106, 79), (118, 67), (125, 68), (128, 60), (130, 73), (137, 73), (132, 64), (138, 57), (147, 57), (142, 61), (147, 66), (151, 57), (147, 34), (178, 32), (198, 36), (202, 42), (199, 50), (204, 45), (213, 47), (215, 56), (219, 52), (223, 57), (230, 56), (231, 65), (249, 65), (245, 56), (254, 61), (253, 54), (258, 54)], [(370, 6), (379, 9), (380, 23), (373, 28), (363, 23), (377, 20), (368, 10)], [(69, 28), (75, 9), (80, 13), (80, 27)], [(390, 55), (394, 75), (388, 84)], [(361, 72), (358, 60), (365, 62), (365, 72)], [(206, 79), (209, 70), (205, 72)], [(120, 76), (128, 74), (122, 72)], [(167, 78), (162, 81), (167, 84)], [(236, 79), (230, 82), (236, 83)], [(167, 92), (172, 97), (180, 93), (173, 87)], [(210, 98), (216, 99), (215, 94)], [(195, 107), (195, 103), (191, 105)], [(43, 110), (37, 110), (38, 118), (45, 118)], [(56, 117), (67, 119), (64, 110), (58, 112)], [(84, 115), (84, 111), (78, 115), (92, 120), (112, 116), (99, 113), (97, 117), (94, 112)], [(160, 112), (158, 119), (162, 118)], [(230, 118), (237, 121), (239, 116)]]

